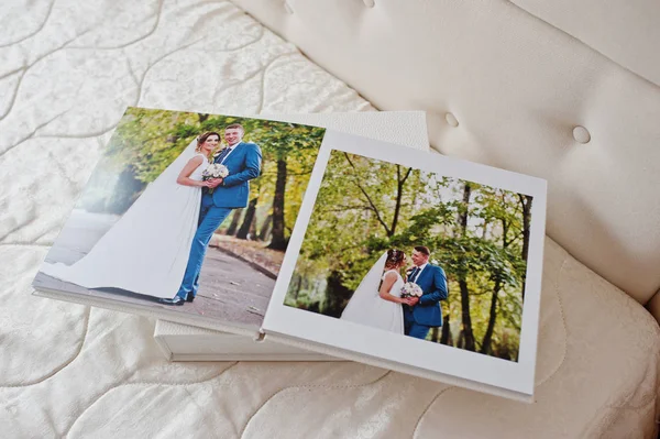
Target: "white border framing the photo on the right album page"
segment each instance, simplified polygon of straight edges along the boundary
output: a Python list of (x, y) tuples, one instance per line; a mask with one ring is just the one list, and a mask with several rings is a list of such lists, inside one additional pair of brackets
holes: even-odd
[[(381, 329), (284, 305), (332, 150), (534, 197), (526, 293), (517, 362), (418, 340), (408, 336), (389, 333)], [(283, 342), (290, 340), (295, 343), (295, 340), (292, 339), (307, 340), (308, 343), (305, 345), (311, 350), (328, 352), (326, 348), (330, 348), (333, 353), (340, 355), (341, 352), (344, 352), (348, 359), (356, 359), (354, 354), (365, 355), (366, 358), (360, 356), (360, 360), (367, 363), (370, 358), (380, 359), (382, 361), (371, 363), (529, 402), (534, 395), (539, 329), (546, 202), (547, 182), (543, 179), (328, 130), (275, 284), (263, 330), (268, 334), (276, 332), (284, 336), (284, 338), (279, 338), (279, 341)], [(407, 369), (406, 365), (410, 367)], [(460, 380), (451, 380), (452, 376)], [(471, 385), (472, 383), (476, 385)], [(486, 386), (481, 386), (479, 383)], [(499, 392), (498, 389), (512, 391), (513, 394), (509, 395), (507, 392)]]

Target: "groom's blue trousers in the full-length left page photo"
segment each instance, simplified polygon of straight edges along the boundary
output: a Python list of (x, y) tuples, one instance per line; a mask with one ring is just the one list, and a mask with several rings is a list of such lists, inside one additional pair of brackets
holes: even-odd
[(222, 221), (224, 221), (224, 218), (227, 218), (231, 211), (232, 209), (228, 207), (217, 207), (213, 205), (213, 197), (209, 194), (205, 194), (201, 197), (197, 232), (195, 233), (195, 238), (193, 238), (190, 256), (188, 257), (184, 281), (176, 294), (180, 298), (186, 299), (189, 294), (191, 294), (193, 297), (197, 296), (197, 289), (199, 288), (199, 273), (201, 272), (201, 263), (204, 262), (206, 249), (209, 245), (213, 232), (220, 227)]

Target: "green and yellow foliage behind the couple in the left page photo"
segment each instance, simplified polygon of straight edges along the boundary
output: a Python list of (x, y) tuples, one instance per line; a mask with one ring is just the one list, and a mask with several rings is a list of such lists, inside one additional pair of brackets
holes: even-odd
[(245, 129), (243, 141), (254, 142), (262, 150), (262, 175), (251, 182), (251, 196), (257, 197), (257, 227), (272, 213), (277, 161), (286, 162), (284, 228), (286, 234), (290, 234), (323, 139), (324, 129), (321, 128), (231, 116), (129, 108), (86, 188), (81, 207), (123, 213), (146, 185), (157, 178), (197, 135), (206, 131), (222, 135), (223, 128), (231, 123), (241, 123)]

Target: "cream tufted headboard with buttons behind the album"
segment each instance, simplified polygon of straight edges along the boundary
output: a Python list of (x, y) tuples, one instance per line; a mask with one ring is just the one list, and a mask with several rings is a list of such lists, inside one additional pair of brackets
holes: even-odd
[(547, 178), (551, 238), (642, 304), (660, 288), (660, 3), (234, 2), (376, 107), (426, 110), (438, 151)]

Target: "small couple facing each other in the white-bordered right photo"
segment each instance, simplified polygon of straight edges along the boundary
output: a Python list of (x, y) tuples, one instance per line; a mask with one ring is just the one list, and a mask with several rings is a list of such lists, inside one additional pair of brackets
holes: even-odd
[[(431, 328), (442, 326), (440, 300), (448, 297), (444, 271), (429, 263), (430, 255), (427, 246), (416, 246), (411, 254), (414, 266), (404, 279), (400, 271), (406, 265), (406, 254), (388, 250), (362, 279), (341, 319), (425, 340)], [(407, 283), (416, 284), (421, 295), (402, 297)]]

